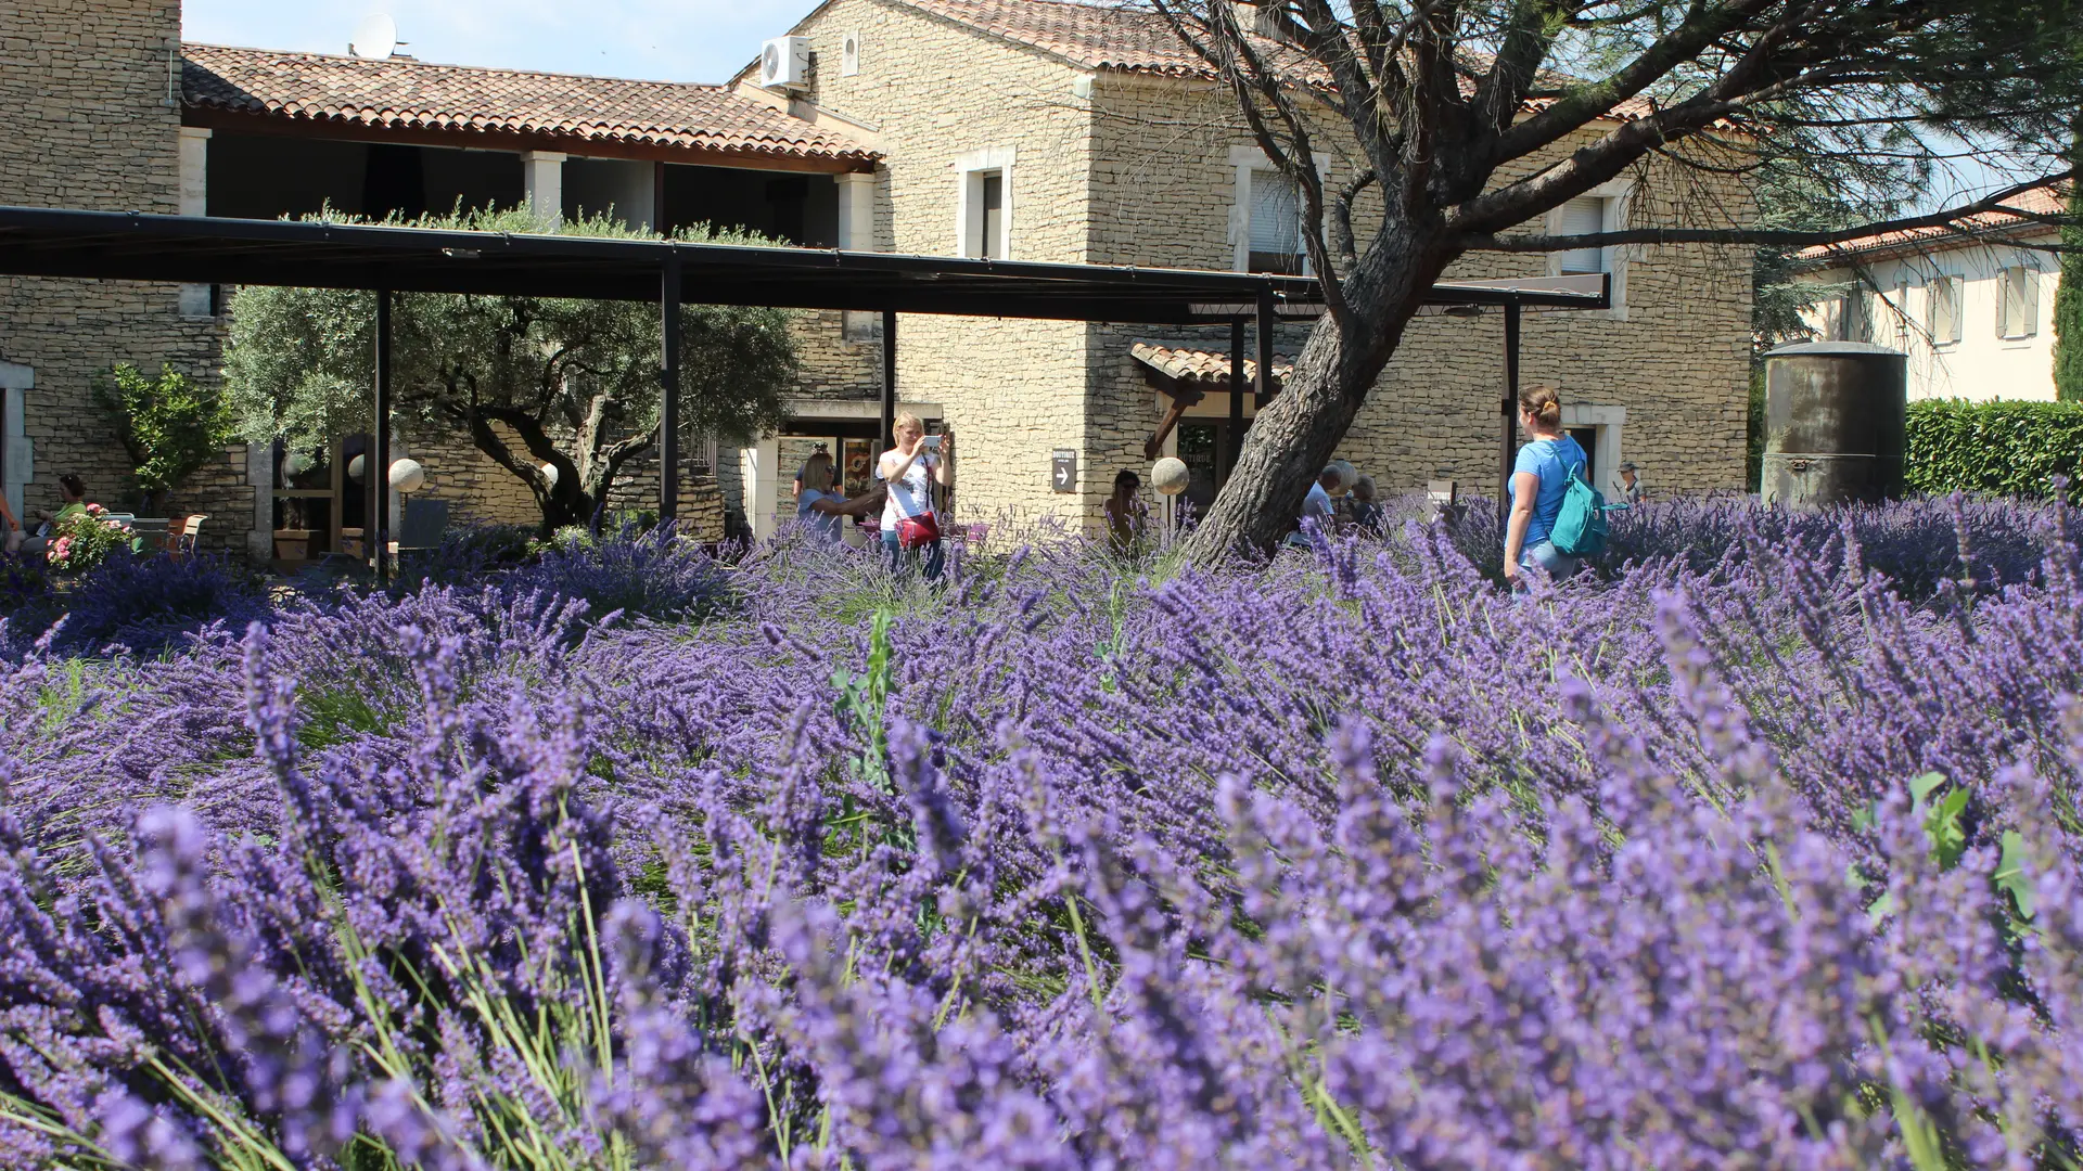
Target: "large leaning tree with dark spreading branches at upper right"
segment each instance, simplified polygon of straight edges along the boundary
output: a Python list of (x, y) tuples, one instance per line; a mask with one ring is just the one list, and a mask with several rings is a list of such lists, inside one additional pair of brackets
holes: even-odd
[[(1943, 227), (2068, 175), (2066, 125), (2083, 106), (2079, 0), (1139, 2), (1206, 60), (1296, 183), (1327, 302), (1189, 538), (1204, 558), (1279, 540), (1456, 258)], [(1883, 210), (1964, 142), (1996, 144), (2029, 177), (1925, 215)], [(1348, 158), (1350, 177), (1325, 181), (1319, 154)], [(1802, 227), (1731, 208), (1702, 225), (1529, 229), (1652, 165), (1864, 185), (1875, 215)]]

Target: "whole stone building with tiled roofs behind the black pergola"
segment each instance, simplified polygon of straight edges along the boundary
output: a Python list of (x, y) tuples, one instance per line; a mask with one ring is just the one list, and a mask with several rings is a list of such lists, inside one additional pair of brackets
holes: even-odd
[[(1214, 77), (1146, 13), (829, 0), (775, 46), (785, 69), (771, 85), (758, 67), (727, 85), (687, 85), (181, 46), (177, 23), (175, 4), (137, 0), (31, 0), (0, 13), (0, 52), (17, 65), (0, 85), (31, 110), (29, 133), (0, 146), (4, 173), (29, 183), (0, 202), (217, 217), (327, 206), (381, 217), (460, 202), (531, 206), (544, 219), (612, 213), (662, 229), (712, 221), (850, 250), (1306, 269), (1291, 185), (1266, 167)], [(1319, 167), (1335, 183), (1350, 163), (1335, 135), (1327, 142)], [(1558, 208), (1550, 227), (1748, 219), (1737, 183), (1662, 165)], [(1598, 271), (1614, 277), (1614, 308), (1529, 315), (1525, 379), (1564, 390), (1566, 423), (1600, 473), (1625, 456), (1660, 490), (1739, 485), (1743, 248), (1473, 256), (1450, 277)], [(10, 288), (37, 292), (0, 310), (0, 356), (12, 363), (0, 383), (27, 381), (10, 373), (23, 367), (37, 381), (8, 392), (8, 433), (27, 442), (10, 444), (0, 473), (10, 485), (19, 473), (31, 498), (60, 471), (52, 458), (121, 479), (112, 435), (87, 408), (87, 373), (123, 356), (215, 369), (221, 290)], [(773, 531), (792, 515), (789, 473), (810, 450), (829, 446), (858, 483), (881, 442), (879, 317), (806, 313), (798, 329), (794, 421), (742, 450), (698, 446), (683, 469), (683, 513), (704, 533), (723, 527), (725, 510)], [(1283, 329), (1281, 354), (1304, 329)], [(902, 406), (958, 431), (960, 519), (1014, 525), (1096, 525), (1114, 473), (1148, 465), (1144, 446), (1166, 404), (1158, 385), (1183, 367), (1221, 375), (1229, 360), (1227, 327), (906, 315), (898, 342)], [(1341, 454), (1387, 490), (1452, 475), (1487, 492), (1502, 348), (1498, 317), (1414, 321)], [(1194, 469), (1200, 500), (1227, 475), (1225, 398), (1210, 394), (1164, 442)], [(533, 517), (521, 481), (458, 435), (421, 429), (398, 444), (427, 465), (425, 492), (465, 519)], [(1075, 483), (1052, 485), (1058, 450), (1077, 454)], [(348, 448), (331, 454), (344, 465)], [(650, 500), (654, 485), (652, 460), (619, 500)], [(196, 496), (206, 510), (244, 517), (225, 531), (265, 554), (283, 498), (300, 492), (325, 496), (331, 523), (346, 523), (340, 475), (290, 485), (281, 452), (227, 452)]]

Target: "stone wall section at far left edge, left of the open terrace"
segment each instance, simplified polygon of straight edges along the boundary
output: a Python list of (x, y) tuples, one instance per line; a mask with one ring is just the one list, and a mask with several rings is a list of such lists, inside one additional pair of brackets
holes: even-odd
[[(0, 4), (0, 202), (92, 210), (179, 210), (179, 110), (167, 104), (177, 0), (8, 0)], [(23, 433), (33, 446), (27, 506), (54, 508), (62, 473), (117, 502), (129, 463), (90, 398), (98, 371), (173, 363), (217, 377), (221, 329), (185, 319), (175, 285), (0, 277), (0, 360), (33, 369)], [(8, 473), (15, 479), (15, 471)], [(252, 527), (244, 448), (169, 502), (208, 513), (204, 548), (244, 548)]]

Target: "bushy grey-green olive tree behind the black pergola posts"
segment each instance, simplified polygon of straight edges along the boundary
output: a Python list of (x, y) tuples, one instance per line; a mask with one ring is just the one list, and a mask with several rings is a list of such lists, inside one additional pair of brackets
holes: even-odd
[[(415, 223), (542, 231), (525, 210)], [(567, 221), (558, 231), (644, 235), (608, 219)], [(681, 238), (760, 244), (706, 229)], [(621, 469), (658, 442), (656, 304), (394, 294), (392, 346), (398, 417), (467, 433), (527, 483), (546, 533), (587, 523)], [(689, 304), (681, 315), (685, 433), (744, 440), (773, 427), (785, 417), (796, 369), (785, 310)], [(225, 385), (248, 442), (304, 448), (367, 431), (373, 379), (375, 294), (254, 285), (231, 298)], [(519, 440), (519, 452), (500, 427)]]

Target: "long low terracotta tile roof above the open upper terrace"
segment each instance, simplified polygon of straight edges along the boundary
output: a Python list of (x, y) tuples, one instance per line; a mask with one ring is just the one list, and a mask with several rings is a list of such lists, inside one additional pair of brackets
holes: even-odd
[(721, 85), (210, 44), (183, 44), (181, 52), (181, 98), (192, 108), (373, 129), (550, 138), (569, 142), (575, 154), (585, 154), (585, 144), (614, 144), (852, 163), (877, 156), (831, 129)]

